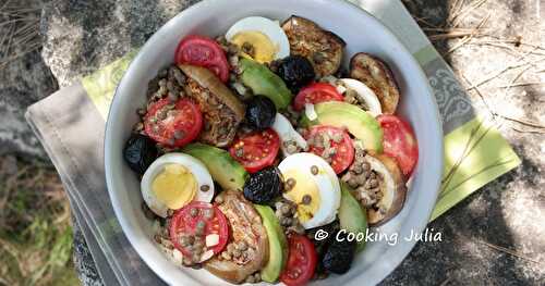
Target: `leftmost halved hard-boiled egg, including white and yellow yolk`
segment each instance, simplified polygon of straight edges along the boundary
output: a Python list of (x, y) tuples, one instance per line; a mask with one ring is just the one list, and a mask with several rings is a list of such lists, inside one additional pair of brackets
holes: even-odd
[(147, 207), (166, 217), (168, 210), (179, 210), (193, 200), (210, 202), (214, 182), (199, 160), (184, 153), (168, 153), (146, 170), (141, 190)]

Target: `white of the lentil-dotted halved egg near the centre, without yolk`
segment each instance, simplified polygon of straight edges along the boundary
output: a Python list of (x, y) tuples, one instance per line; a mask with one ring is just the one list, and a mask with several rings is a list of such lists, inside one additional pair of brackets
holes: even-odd
[[(313, 165), (318, 167), (317, 175), (311, 173)], [(290, 170), (299, 170), (305, 177), (313, 179), (318, 188), (320, 203), (313, 217), (302, 223), (306, 229), (335, 221), (340, 207), (340, 184), (332, 167), (322, 157), (313, 153), (295, 153), (283, 159), (278, 169), (282, 174)]]

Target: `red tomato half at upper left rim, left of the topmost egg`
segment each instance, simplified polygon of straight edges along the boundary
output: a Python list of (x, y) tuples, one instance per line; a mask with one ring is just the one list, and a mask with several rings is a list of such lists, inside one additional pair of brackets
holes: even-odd
[(180, 41), (175, 51), (175, 63), (186, 63), (206, 67), (223, 83), (229, 79), (229, 63), (223, 49), (213, 39), (192, 35)]

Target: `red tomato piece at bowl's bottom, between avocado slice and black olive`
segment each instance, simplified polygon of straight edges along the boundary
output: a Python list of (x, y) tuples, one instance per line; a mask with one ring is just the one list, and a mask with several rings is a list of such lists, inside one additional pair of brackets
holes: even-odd
[(288, 286), (305, 285), (316, 269), (317, 256), (314, 244), (304, 235), (292, 234), (288, 237), (290, 254), (280, 274), (280, 281)]

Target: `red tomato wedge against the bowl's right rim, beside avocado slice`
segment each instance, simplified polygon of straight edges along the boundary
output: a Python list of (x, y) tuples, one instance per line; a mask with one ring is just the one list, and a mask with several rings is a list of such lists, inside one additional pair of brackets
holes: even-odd
[(409, 177), (419, 161), (419, 145), (411, 125), (396, 115), (383, 114), (377, 120), (384, 132), (384, 153), (393, 157)]

